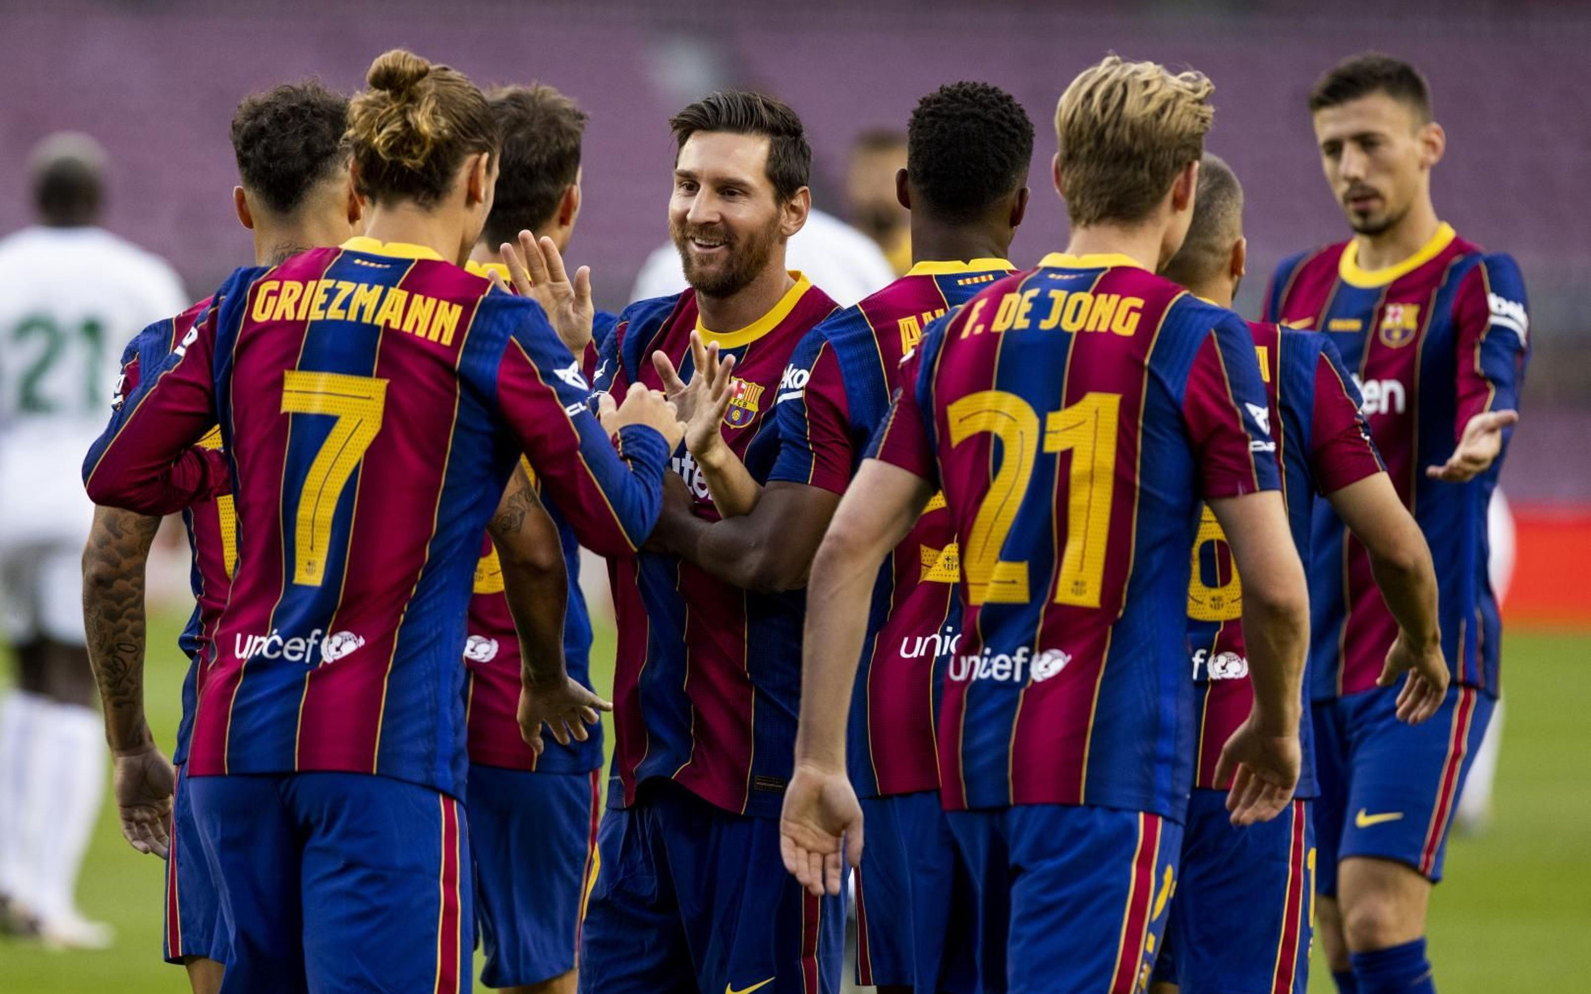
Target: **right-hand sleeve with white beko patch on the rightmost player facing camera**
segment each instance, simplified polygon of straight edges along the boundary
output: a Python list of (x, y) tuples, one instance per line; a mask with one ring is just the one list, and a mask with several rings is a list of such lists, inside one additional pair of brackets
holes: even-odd
[(1531, 313), (1519, 266), (1511, 256), (1483, 256), (1464, 277), (1453, 310), (1459, 350), (1453, 431), (1459, 441), (1475, 415), (1519, 409), (1531, 359)]

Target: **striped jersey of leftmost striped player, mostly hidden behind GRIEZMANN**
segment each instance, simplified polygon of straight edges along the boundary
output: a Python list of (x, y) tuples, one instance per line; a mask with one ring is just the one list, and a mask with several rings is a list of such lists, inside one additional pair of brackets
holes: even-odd
[[(121, 380), (116, 383), (118, 404), (138, 390), (143, 371), (159, 369), (165, 363), (188, 331), (208, 312), (212, 301), (213, 297), (205, 297), (175, 318), (150, 324), (127, 344), (121, 356)], [(221, 428), (207, 431), (199, 444), (220, 448)], [(232, 496), (226, 493), (189, 504), (183, 509), (183, 525), (188, 530), (188, 549), (193, 557), (188, 582), (194, 595), (194, 611), (177, 639), (188, 657), (188, 673), (183, 676), (183, 714), (177, 725), (173, 763), (188, 760), (199, 684), (210, 660), (215, 658), (215, 627), (221, 620), (221, 609), (226, 608), (232, 587), (232, 565), (237, 560), (237, 515)]]

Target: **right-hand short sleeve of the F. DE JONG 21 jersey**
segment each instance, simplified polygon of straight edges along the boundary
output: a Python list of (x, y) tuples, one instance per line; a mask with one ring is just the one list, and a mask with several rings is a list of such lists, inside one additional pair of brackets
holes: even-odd
[(1182, 417), (1203, 499), (1281, 488), (1254, 336), (1236, 315), (1219, 318), (1193, 353)]

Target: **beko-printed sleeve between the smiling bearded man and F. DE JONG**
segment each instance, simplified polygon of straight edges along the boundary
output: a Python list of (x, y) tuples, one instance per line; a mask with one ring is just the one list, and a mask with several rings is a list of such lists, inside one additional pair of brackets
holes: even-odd
[(845, 493), (856, 466), (856, 442), (840, 359), (826, 336), (810, 332), (796, 348), (780, 380), (775, 415), (780, 455), (768, 482)]

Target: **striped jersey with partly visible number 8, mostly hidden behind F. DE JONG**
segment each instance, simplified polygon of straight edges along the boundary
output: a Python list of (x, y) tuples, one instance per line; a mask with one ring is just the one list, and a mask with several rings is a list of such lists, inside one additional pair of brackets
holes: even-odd
[[(1359, 414), (1359, 391), (1332, 342), (1308, 331), (1249, 323), (1270, 399), (1270, 428), (1282, 469), (1287, 525), (1298, 557), (1309, 561), (1316, 495), (1332, 495), (1383, 471), (1370, 428)], [(1188, 580), (1188, 643), (1193, 649), (1198, 752), (1193, 786), (1225, 790), (1216, 779), (1220, 749), (1249, 717), (1254, 685), (1243, 641), (1243, 579), (1209, 507), (1193, 539)], [(1305, 693), (1308, 695), (1308, 671)], [(1314, 776), (1314, 727), (1305, 720), (1303, 771), (1297, 795), (1319, 794)]]

